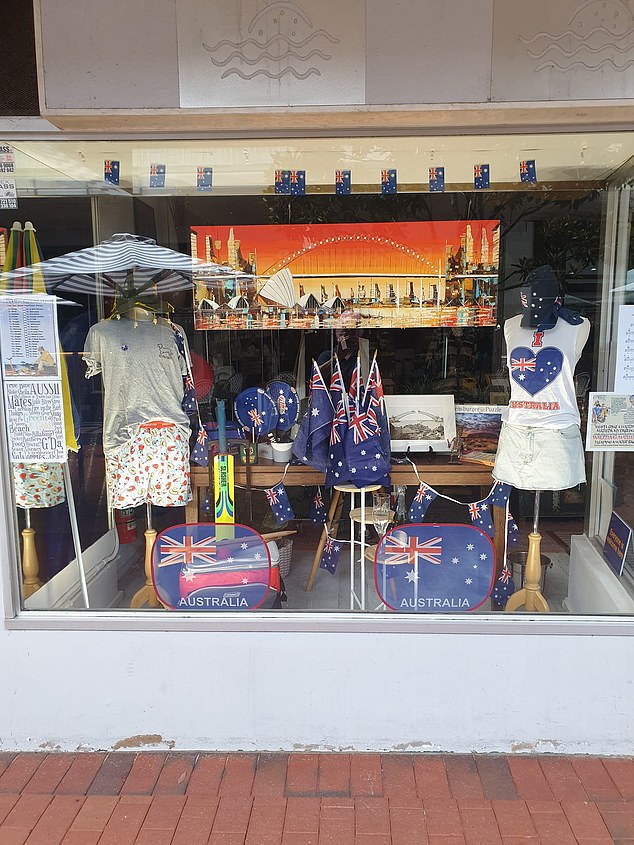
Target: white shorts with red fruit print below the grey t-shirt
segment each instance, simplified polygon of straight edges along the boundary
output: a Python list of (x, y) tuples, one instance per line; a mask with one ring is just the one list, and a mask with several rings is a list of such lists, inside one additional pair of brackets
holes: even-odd
[(136, 437), (106, 454), (106, 483), (109, 504), (119, 510), (187, 504), (189, 433), (177, 425), (142, 425)]

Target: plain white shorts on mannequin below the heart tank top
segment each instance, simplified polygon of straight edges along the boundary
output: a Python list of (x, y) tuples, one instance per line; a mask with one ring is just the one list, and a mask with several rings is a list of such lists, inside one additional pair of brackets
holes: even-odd
[(493, 478), (518, 490), (567, 490), (583, 484), (586, 467), (579, 426), (503, 423)]

